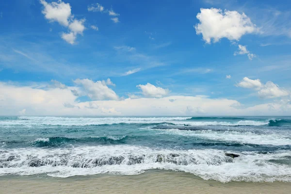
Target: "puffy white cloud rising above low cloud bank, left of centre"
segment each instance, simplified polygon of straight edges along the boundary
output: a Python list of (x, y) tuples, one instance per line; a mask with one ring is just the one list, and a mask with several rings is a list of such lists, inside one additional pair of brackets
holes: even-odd
[(82, 87), (82, 93), (92, 100), (104, 100), (113, 99), (118, 100), (116, 93), (109, 88), (107, 85), (112, 85), (113, 83), (109, 80), (107, 81), (92, 81), (89, 79), (77, 79), (74, 81), (77, 85)]

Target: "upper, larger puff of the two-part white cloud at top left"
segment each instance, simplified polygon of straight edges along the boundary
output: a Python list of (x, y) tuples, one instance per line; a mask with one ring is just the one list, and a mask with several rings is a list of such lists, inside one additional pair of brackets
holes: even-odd
[(49, 21), (57, 21), (63, 26), (69, 25), (69, 17), (71, 16), (71, 6), (62, 0), (58, 2), (48, 3), (45, 0), (40, 0), (44, 6), (42, 13)]

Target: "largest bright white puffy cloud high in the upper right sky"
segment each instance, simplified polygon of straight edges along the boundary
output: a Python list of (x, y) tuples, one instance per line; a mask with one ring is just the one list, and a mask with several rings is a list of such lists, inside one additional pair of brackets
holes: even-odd
[(258, 31), (248, 16), (237, 11), (201, 8), (196, 17), (200, 21), (194, 26), (196, 34), (202, 34), (209, 44), (211, 40), (217, 42), (221, 38), (238, 41), (242, 35)]

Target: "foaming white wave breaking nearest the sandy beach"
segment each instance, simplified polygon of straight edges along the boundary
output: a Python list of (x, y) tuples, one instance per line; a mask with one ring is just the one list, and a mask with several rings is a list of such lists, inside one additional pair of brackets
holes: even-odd
[(137, 175), (148, 169), (164, 169), (189, 172), (221, 182), (291, 181), (290, 165), (274, 162), (290, 160), (290, 151), (241, 152), (235, 159), (225, 153), (216, 149), (171, 150), (139, 146), (23, 148), (0, 153), (0, 175), (45, 173), (66, 178), (101, 173)]

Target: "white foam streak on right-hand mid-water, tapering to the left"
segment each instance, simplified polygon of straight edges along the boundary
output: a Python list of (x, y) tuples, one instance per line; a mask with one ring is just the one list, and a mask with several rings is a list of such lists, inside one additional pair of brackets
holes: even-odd
[(291, 145), (291, 139), (280, 134), (256, 134), (253, 132), (239, 131), (216, 131), (216, 130), (179, 130), (179, 129), (150, 129), (158, 130), (163, 134), (174, 134), (181, 136), (192, 136), (208, 140), (223, 142), (238, 142), (242, 144), (274, 145), (284, 146)]

